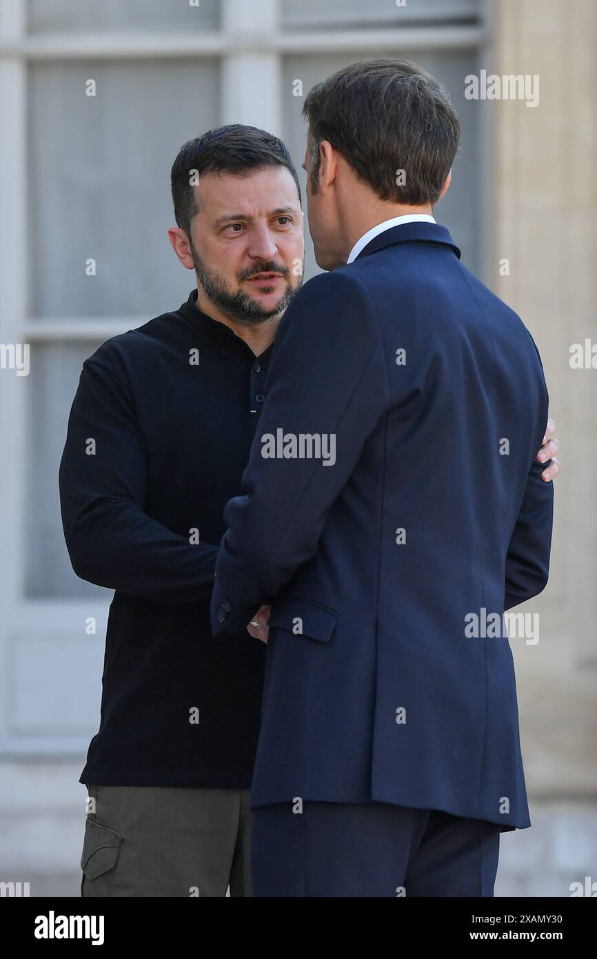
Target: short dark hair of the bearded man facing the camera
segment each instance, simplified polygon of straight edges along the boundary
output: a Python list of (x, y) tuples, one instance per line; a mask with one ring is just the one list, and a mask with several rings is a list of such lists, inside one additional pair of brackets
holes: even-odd
[(172, 202), (178, 226), (191, 237), (191, 221), (195, 216), (195, 193), (191, 176), (231, 173), (246, 176), (262, 167), (286, 167), (296, 183), (299, 202), (301, 187), (296, 169), (286, 146), (273, 133), (242, 124), (210, 129), (185, 143), (172, 164)]

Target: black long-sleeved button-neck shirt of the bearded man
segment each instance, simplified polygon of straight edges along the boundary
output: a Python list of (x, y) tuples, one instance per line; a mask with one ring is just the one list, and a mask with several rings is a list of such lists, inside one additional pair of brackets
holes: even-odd
[(195, 290), (83, 363), (62, 524), (75, 572), (115, 593), (81, 783), (251, 785), (265, 646), (246, 629), (212, 639), (210, 597), (272, 349), (256, 357)]

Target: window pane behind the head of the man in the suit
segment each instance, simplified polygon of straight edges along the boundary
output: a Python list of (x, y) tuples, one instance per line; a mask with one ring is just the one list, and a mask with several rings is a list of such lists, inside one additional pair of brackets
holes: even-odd
[[(326, 57), (288, 57), (284, 64), (283, 115), (285, 121), (284, 138), (292, 158), (301, 167), (305, 156), (306, 126), (301, 117), (304, 97), (293, 96), (293, 82), (303, 82), (306, 95), (313, 83), (325, 80), (335, 70), (354, 63), (359, 59), (368, 59), (370, 54), (345, 54)], [(397, 50), (379, 51), (379, 57), (401, 57), (408, 54)], [(448, 226), (454, 242), (462, 249), (463, 261), (479, 272), (482, 269), (480, 254), (481, 237), (481, 171), (480, 171), (480, 132), (479, 102), (465, 100), (464, 78), (476, 71), (476, 55), (464, 51), (421, 51), (417, 62), (425, 70), (442, 82), (458, 110), (462, 121), (460, 150), (454, 164), (452, 182), (448, 193), (435, 210), (439, 222)], [(301, 185), (305, 187), (305, 172), (298, 170)], [(307, 276), (320, 272), (313, 256), (310, 238), (307, 237)]]

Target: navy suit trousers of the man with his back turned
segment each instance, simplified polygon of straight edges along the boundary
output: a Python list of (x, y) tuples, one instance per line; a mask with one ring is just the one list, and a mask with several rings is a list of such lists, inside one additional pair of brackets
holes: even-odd
[(253, 896), (492, 897), (499, 826), (385, 803), (253, 809)]

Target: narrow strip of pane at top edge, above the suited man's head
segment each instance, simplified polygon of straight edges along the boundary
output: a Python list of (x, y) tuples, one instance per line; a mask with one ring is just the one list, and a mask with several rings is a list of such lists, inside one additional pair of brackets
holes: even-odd
[(462, 21), (479, 15), (479, 0), (407, 0), (398, 7), (396, 0), (282, 0), (285, 26), (314, 26), (330, 23), (336, 27), (354, 24), (413, 24), (434, 20), (438, 23)]

